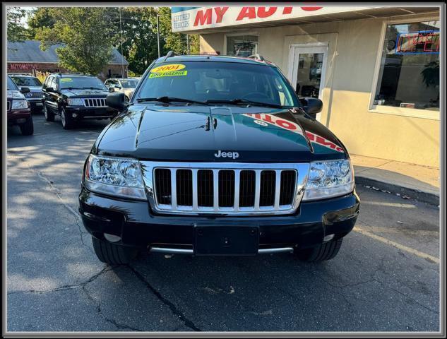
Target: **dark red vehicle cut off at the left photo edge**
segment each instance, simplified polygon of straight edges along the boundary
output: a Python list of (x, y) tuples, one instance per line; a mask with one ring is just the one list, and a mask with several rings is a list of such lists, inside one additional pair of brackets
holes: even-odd
[(18, 86), (10, 76), (8, 76), (6, 82), (8, 126), (19, 126), (23, 136), (30, 136), (34, 133), (34, 125), (32, 124), (30, 104), (25, 100), (25, 96), (23, 95), (23, 93), (30, 93), (30, 89), (23, 87), (20, 92)]

